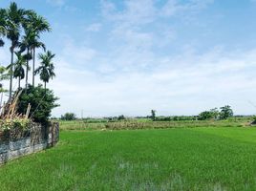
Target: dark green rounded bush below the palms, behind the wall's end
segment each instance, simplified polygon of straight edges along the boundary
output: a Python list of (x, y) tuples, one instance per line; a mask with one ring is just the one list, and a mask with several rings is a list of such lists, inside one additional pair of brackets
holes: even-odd
[(35, 122), (47, 122), (51, 117), (53, 108), (58, 104), (55, 101), (58, 98), (53, 95), (53, 91), (42, 88), (42, 85), (32, 87), (29, 85), (27, 91), (23, 91), (18, 101), (17, 112), (20, 114), (26, 114), (29, 103), (31, 104), (30, 117)]

